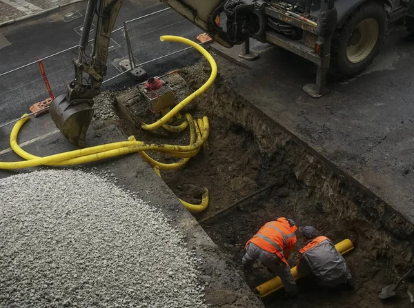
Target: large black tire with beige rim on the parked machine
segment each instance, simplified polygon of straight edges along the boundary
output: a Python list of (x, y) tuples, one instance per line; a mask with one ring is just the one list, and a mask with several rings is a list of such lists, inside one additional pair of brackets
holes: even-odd
[(362, 72), (380, 52), (386, 25), (386, 10), (381, 3), (368, 1), (356, 8), (333, 34), (331, 72), (341, 77)]

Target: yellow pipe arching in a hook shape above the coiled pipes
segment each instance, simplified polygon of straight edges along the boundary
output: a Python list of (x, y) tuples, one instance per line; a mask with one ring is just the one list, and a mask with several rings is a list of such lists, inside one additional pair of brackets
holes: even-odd
[(181, 101), (181, 103), (177, 104), (174, 108), (172, 108), (172, 110), (170, 110), (170, 112), (168, 112), (165, 116), (163, 116), (157, 122), (152, 123), (152, 124), (141, 123), (141, 128), (144, 130), (155, 130), (161, 125), (166, 124), (168, 121), (170, 121), (172, 116), (175, 116), (177, 112), (179, 112), (186, 105), (188, 105), (191, 101), (193, 101), (193, 99), (195, 99), (197, 96), (200, 96), (201, 94), (206, 92), (206, 90), (210, 88), (210, 85), (213, 84), (217, 76), (217, 64), (215, 60), (213, 59), (213, 57), (211, 57), (211, 54), (209, 54), (207, 50), (202, 48), (199, 44), (193, 41), (190, 41), (189, 39), (184, 39), (184, 37), (175, 37), (173, 35), (163, 35), (159, 39), (161, 41), (175, 41), (179, 43), (184, 43), (184, 44), (190, 45), (191, 47), (195, 48), (195, 50), (199, 51), (204, 57), (206, 57), (207, 61), (210, 63), (211, 74), (210, 74), (210, 78), (208, 78), (206, 83), (204, 83), (204, 85), (201, 85), (201, 88), (196, 90), (193, 94), (190, 94), (189, 96), (187, 96), (186, 99)]

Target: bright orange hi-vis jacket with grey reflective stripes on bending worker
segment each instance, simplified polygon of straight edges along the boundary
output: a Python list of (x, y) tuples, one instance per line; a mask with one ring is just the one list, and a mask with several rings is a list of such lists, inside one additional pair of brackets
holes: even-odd
[[(295, 248), (296, 226), (290, 227), (286, 218), (278, 218), (276, 221), (266, 223), (253, 238), (246, 243), (253, 243), (258, 247), (275, 254), (284, 263), (288, 264), (286, 258)], [(246, 247), (245, 247), (246, 248)]]

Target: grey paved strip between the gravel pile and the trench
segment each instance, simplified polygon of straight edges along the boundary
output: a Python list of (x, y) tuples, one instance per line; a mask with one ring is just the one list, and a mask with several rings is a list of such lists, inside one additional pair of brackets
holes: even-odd
[[(0, 138), (0, 153), (8, 148), (8, 143), (3, 138), (5, 135), (7, 132), (3, 131)], [(30, 120), (22, 127), (19, 143), (31, 141), (33, 138), (37, 139), (23, 147), (31, 154), (46, 156), (75, 150), (73, 145), (68, 143), (59, 132), (56, 132), (54, 126), (50, 125), (50, 116), (48, 115), (41, 116), (34, 121)], [(99, 145), (123, 141), (126, 140), (126, 136), (121, 134), (115, 126), (108, 126), (101, 130), (90, 129), (87, 140), (88, 145)], [(19, 158), (14, 152), (0, 154), (0, 161), (17, 159)], [(212, 307), (263, 307), (262, 302), (248, 288), (242, 277), (233, 267), (228, 265), (224, 255), (204, 232), (204, 229), (200, 227), (197, 220), (181, 205), (175, 194), (155, 174), (152, 168), (141, 160), (140, 156), (131, 154), (83, 166), (92, 172), (112, 172), (115, 174), (113, 181), (116, 181), (116, 185), (131, 192), (137, 192), (140, 198), (159, 207), (170, 218), (170, 223), (184, 234), (188, 247), (197, 251), (198, 257), (202, 259), (202, 263), (199, 265), (203, 274), (201, 281), (210, 281), (206, 286), (205, 298)], [(10, 176), (10, 174), (14, 174), (14, 172), (0, 170), (0, 178)]]

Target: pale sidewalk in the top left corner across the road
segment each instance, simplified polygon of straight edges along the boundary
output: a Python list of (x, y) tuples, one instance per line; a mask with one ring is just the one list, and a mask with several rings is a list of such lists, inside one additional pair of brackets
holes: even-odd
[(0, 0), (0, 27), (84, 0)]

